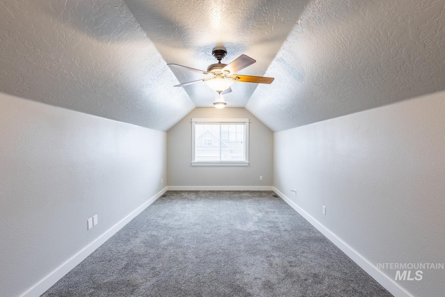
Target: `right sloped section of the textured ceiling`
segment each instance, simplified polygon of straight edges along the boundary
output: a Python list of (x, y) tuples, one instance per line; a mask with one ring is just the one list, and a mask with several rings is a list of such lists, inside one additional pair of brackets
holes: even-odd
[(273, 131), (445, 89), (445, 1), (311, 1), (246, 109)]

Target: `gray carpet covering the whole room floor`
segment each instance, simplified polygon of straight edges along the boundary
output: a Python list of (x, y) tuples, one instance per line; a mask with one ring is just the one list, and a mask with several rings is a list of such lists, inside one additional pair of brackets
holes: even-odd
[(42, 296), (391, 296), (269, 191), (168, 191)]

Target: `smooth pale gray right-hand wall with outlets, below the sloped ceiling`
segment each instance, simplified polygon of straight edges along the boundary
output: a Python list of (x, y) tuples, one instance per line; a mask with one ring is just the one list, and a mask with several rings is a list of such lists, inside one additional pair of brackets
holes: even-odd
[[(444, 263), (444, 131), (445, 93), (280, 131), (274, 186), (372, 265)], [(443, 296), (444, 277), (397, 283)]]

